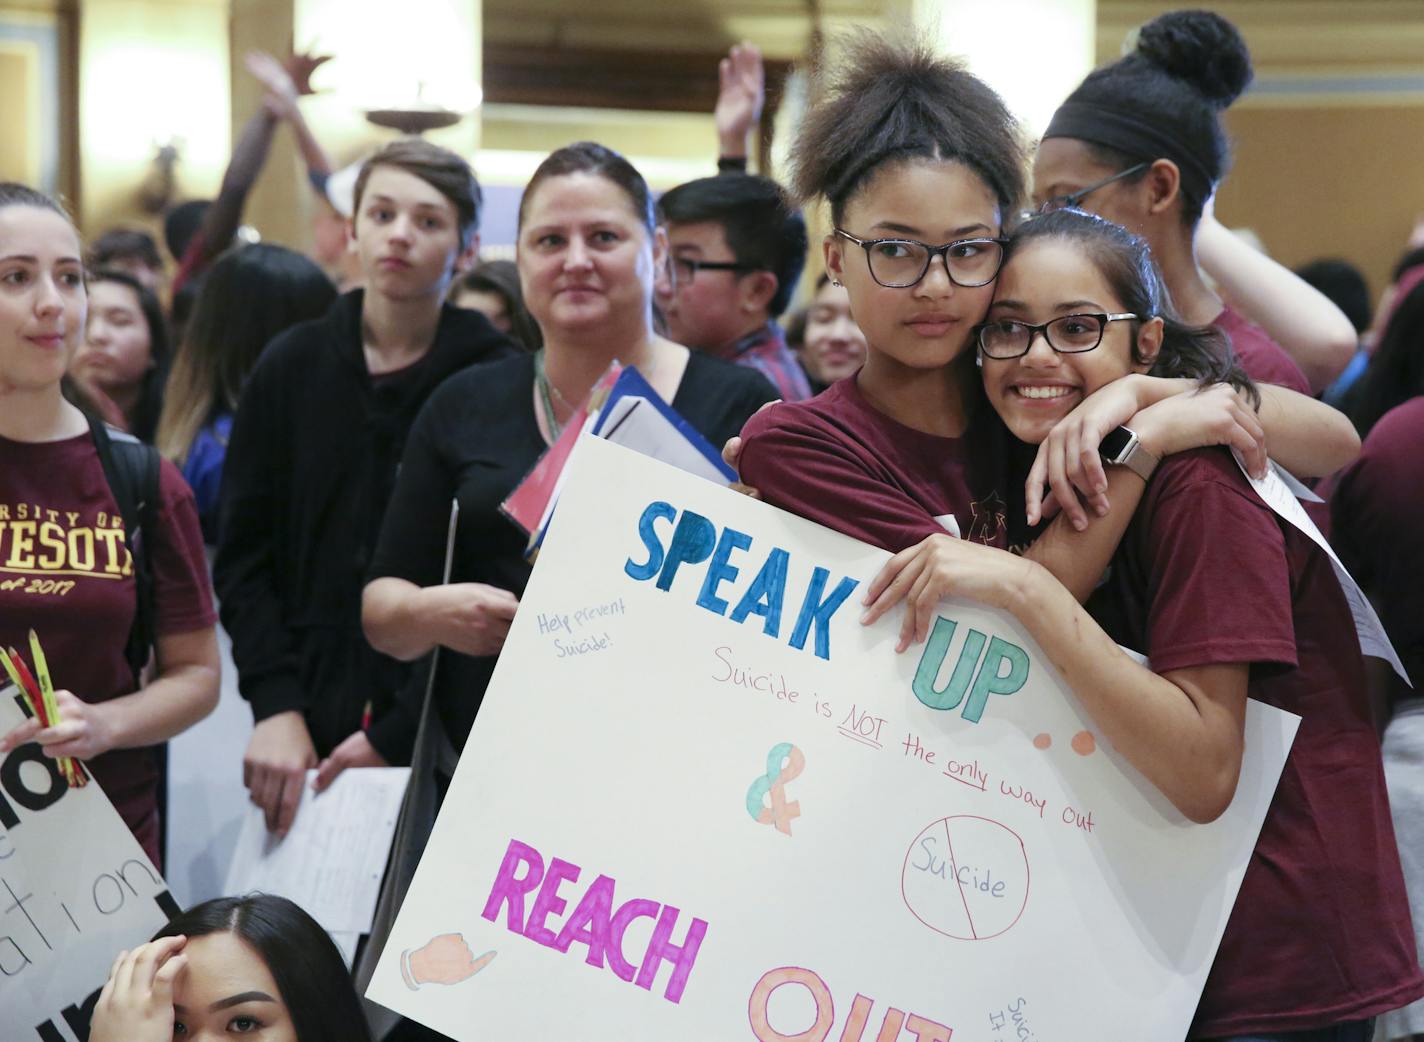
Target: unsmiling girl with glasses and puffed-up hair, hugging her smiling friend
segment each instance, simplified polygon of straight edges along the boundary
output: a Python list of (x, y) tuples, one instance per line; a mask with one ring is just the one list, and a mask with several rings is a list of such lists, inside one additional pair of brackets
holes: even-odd
[[(987, 407), (970, 350), (994, 295), (1004, 215), (1024, 191), (1017, 124), (954, 63), (874, 34), (847, 41), (819, 97), (793, 152), (795, 188), (830, 202), (826, 268), (849, 295), (866, 362), (817, 399), (748, 423), (742, 478), (769, 502), (891, 551), (946, 531), (1008, 547), (1027, 538), (1025, 517), (1040, 521), (1048, 483), (1064, 517), (1025, 552), (1081, 599), (1142, 495), (1139, 477), (1098, 457), (1119, 424), (1158, 456), (1225, 443), (1256, 468), (1265, 428), (1277, 458), (1312, 477), (1358, 450), (1334, 410), (1282, 389), (1263, 390), (1257, 419), (1230, 389), (1183, 394), (1178, 381), (1134, 376), (1074, 409), (1069, 436), (1040, 453), (1025, 491), (1022, 447)], [(1077, 389), (1058, 404), (1085, 399)]]

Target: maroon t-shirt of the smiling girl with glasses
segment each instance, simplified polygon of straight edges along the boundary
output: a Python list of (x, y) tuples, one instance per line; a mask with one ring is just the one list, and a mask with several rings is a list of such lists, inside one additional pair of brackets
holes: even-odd
[(1153, 670), (1246, 662), (1250, 696), (1302, 717), (1190, 1038), (1321, 1028), (1424, 995), (1364, 663), (1324, 552), (1225, 450), (1182, 453), (1089, 608)]

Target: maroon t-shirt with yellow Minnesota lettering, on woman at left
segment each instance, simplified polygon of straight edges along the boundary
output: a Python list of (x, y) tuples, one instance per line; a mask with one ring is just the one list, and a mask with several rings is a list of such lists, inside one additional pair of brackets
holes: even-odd
[[(145, 534), (157, 632), (206, 629), (216, 615), (192, 493), (167, 460), (158, 487), (157, 527)], [(0, 645), (28, 662), (34, 629), (56, 689), (105, 702), (134, 690), (124, 645), (137, 609), (132, 559), (93, 437), (0, 437)], [(115, 749), (88, 767), (157, 864), (154, 750)]]

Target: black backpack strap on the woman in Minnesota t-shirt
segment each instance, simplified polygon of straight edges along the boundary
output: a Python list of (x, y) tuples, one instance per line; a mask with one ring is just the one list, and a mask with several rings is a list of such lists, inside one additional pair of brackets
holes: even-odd
[(118, 515), (124, 521), (124, 545), (134, 558), (138, 609), (134, 612), (124, 659), (134, 673), (137, 689), (157, 638), (154, 572), (144, 534), (157, 525), (159, 457), (152, 446), (145, 446), (131, 434), (111, 430), (95, 417), (90, 417), (90, 433), (94, 437), (94, 448), (98, 450), (100, 465), (104, 468), (104, 480), (114, 493)]

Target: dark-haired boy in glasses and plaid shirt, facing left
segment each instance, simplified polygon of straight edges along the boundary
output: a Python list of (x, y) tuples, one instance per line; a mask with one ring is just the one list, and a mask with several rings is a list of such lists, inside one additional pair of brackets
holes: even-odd
[(658, 201), (672, 278), (659, 295), (668, 336), (749, 366), (787, 401), (810, 397), (776, 319), (806, 265), (806, 219), (775, 181), (722, 174)]

